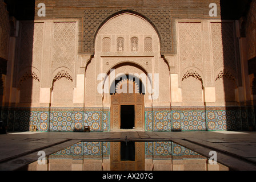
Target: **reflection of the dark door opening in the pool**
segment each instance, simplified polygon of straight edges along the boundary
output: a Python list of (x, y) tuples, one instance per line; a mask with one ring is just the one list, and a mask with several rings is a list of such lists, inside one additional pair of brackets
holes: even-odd
[(135, 143), (134, 141), (121, 142), (121, 160), (135, 161)]

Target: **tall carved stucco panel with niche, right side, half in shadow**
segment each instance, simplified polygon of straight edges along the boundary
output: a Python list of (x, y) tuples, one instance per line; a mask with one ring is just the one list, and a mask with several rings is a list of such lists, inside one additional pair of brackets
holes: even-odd
[(241, 79), (234, 36), (233, 22), (211, 23), (215, 95), (221, 105), (236, 101), (235, 89)]

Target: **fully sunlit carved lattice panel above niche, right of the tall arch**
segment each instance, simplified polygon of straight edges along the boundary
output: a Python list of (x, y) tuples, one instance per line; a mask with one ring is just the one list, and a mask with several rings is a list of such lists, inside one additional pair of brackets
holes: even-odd
[(181, 69), (191, 66), (202, 69), (202, 24), (179, 22), (178, 28)]

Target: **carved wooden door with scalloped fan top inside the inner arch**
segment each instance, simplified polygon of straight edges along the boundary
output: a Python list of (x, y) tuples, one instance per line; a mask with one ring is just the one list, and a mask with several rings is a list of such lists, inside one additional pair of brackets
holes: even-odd
[(113, 82), (114, 93), (110, 100), (110, 130), (145, 130), (144, 96), (145, 88), (138, 78), (121, 76)]

